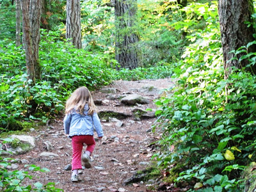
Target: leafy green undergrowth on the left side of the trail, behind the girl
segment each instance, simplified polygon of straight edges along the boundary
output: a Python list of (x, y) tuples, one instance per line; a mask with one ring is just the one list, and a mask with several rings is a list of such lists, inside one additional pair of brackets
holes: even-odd
[(67, 97), (79, 86), (95, 90), (113, 79), (108, 54), (77, 50), (60, 33), (42, 31), (42, 77), (31, 86), (26, 75), (24, 50), (0, 41), (0, 127), (17, 130), (16, 120), (44, 120), (64, 109)]

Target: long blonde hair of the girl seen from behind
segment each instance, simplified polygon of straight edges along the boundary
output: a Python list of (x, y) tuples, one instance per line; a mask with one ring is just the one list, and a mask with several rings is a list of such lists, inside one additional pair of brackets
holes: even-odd
[(93, 102), (92, 95), (88, 88), (81, 86), (75, 90), (66, 102), (65, 113), (71, 113), (75, 108), (77, 113), (84, 115), (84, 106), (88, 104), (88, 115), (92, 115), (96, 111), (96, 106)]

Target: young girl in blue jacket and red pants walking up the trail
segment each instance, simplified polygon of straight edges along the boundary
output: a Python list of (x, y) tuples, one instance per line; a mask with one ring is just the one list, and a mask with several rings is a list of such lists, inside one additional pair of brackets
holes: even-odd
[(82, 86), (72, 93), (66, 104), (66, 115), (64, 118), (64, 131), (72, 138), (72, 175), (73, 182), (78, 181), (78, 170), (82, 169), (81, 154), (84, 143), (87, 145), (82, 156), (84, 166), (91, 167), (90, 156), (95, 147), (93, 131), (98, 134), (99, 139), (103, 136), (99, 116), (95, 112), (95, 104), (88, 88)]

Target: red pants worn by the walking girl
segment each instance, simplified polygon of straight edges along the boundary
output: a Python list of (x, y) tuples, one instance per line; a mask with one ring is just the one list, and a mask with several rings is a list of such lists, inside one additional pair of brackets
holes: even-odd
[(95, 140), (92, 135), (72, 136), (72, 170), (82, 169), (81, 155), (84, 143), (87, 145), (86, 150), (92, 153), (95, 147)]

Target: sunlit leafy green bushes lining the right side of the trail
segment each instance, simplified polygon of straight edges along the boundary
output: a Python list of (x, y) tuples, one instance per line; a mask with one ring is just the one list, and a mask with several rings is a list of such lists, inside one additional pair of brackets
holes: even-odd
[(191, 30), (192, 43), (174, 70), (176, 85), (156, 100), (163, 136), (154, 157), (166, 170), (182, 164), (175, 182), (189, 184), (190, 191), (241, 191), (244, 166), (255, 159), (256, 79), (241, 70), (223, 80), (216, 3), (187, 9), (207, 25), (195, 29), (193, 20), (176, 25)]

